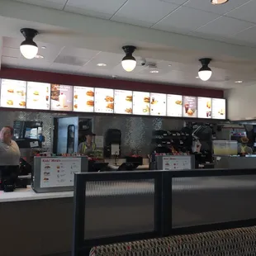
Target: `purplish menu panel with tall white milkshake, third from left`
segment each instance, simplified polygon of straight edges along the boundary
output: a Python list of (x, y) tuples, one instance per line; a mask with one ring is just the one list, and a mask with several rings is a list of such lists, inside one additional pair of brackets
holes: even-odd
[(73, 87), (50, 84), (50, 110), (73, 111)]

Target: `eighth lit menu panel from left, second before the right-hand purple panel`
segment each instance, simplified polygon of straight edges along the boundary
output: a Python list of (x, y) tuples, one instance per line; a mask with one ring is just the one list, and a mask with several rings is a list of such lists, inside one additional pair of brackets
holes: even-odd
[(150, 115), (166, 116), (166, 94), (150, 93)]

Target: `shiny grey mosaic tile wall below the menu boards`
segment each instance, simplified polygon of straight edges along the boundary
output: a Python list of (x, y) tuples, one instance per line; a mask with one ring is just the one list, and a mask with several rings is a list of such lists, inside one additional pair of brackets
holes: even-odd
[[(58, 116), (68, 117), (49, 112), (0, 111), (0, 127), (13, 126), (13, 121), (43, 121), (44, 148), (52, 149), (53, 121)], [(129, 154), (132, 150), (139, 150), (143, 155), (149, 154), (153, 130), (178, 130), (183, 127), (183, 120), (147, 116), (93, 116), (93, 119), (97, 135), (105, 135), (108, 129), (121, 130), (122, 154)]]

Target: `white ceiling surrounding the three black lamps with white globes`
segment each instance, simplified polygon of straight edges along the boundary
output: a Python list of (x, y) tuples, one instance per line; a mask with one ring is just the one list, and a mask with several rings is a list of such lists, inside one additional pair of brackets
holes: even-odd
[[(256, 82), (256, 0), (221, 6), (210, 0), (0, 0), (0, 6), (2, 66), (223, 89)], [(40, 31), (44, 59), (20, 55), (25, 26)], [(138, 47), (132, 73), (121, 68), (126, 44)], [(208, 82), (196, 78), (201, 57), (213, 59)]]

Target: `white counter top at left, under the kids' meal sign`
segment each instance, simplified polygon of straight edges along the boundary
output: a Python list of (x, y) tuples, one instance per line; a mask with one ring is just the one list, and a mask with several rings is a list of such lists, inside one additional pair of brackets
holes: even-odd
[(30, 186), (27, 188), (16, 189), (14, 192), (0, 191), (0, 203), (8, 201), (31, 201), (65, 197), (73, 197), (73, 191), (36, 193)]

